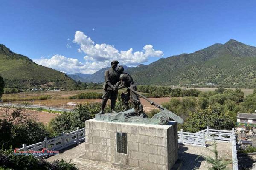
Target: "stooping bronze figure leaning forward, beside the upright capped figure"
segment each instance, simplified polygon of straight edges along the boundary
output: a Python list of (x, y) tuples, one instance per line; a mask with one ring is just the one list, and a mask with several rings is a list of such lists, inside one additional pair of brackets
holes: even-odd
[(139, 96), (135, 94), (134, 92), (130, 91), (128, 88), (132, 88), (134, 91), (137, 91), (137, 87), (134, 84), (134, 81), (130, 74), (124, 73), (124, 68), (122, 65), (120, 65), (117, 68), (117, 72), (120, 74), (120, 85), (118, 86), (118, 89), (121, 88), (127, 88), (125, 92), (122, 92), (121, 99), (123, 104), (125, 105), (125, 110), (127, 111), (130, 109), (129, 107), (129, 100), (134, 104), (135, 112), (137, 113), (137, 116), (140, 117), (146, 117), (146, 114), (143, 111), (143, 106), (140, 103)]

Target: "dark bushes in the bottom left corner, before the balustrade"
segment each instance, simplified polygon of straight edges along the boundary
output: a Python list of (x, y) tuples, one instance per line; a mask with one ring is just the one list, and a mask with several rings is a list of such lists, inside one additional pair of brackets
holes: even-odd
[(32, 155), (14, 155), (12, 149), (0, 150), (0, 167), (15, 170), (77, 170), (75, 164), (67, 163), (63, 159), (51, 163)]

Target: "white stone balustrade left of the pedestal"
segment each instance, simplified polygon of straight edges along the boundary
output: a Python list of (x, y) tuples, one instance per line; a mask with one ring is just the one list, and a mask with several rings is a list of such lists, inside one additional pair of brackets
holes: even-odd
[[(41, 151), (43, 148), (47, 148), (48, 150), (61, 150), (65, 147), (69, 147), (70, 145), (76, 144), (78, 142), (85, 140), (85, 128), (79, 129), (79, 127), (76, 128), (75, 131), (70, 133), (62, 133), (61, 136), (47, 139), (47, 137), (42, 142), (38, 142), (36, 144), (32, 144), (29, 146), (26, 146), (26, 144), (22, 145), (22, 148), (20, 150), (24, 151)], [(43, 157), (46, 155), (37, 155), (35, 157)]]

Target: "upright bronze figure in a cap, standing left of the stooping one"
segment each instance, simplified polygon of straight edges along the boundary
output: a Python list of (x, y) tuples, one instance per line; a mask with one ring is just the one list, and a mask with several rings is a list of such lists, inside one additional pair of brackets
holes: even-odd
[(111, 62), (111, 68), (105, 71), (104, 78), (105, 82), (103, 85), (104, 94), (102, 96), (102, 110), (98, 114), (104, 114), (104, 109), (107, 104), (108, 99), (111, 100), (111, 110), (112, 113), (115, 113), (115, 105), (116, 105), (116, 99), (118, 96), (118, 85), (119, 85), (119, 77), (120, 74), (116, 71), (116, 67), (118, 65), (118, 61), (112, 61)]

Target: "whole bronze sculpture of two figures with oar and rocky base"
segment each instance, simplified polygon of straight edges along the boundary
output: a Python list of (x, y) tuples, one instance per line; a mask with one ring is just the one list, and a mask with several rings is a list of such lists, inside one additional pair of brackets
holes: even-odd
[[(167, 125), (169, 118), (175, 120), (177, 115), (163, 108), (161, 105), (157, 105), (154, 102), (148, 100), (145, 96), (137, 92), (137, 87), (131, 75), (123, 72), (124, 68), (122, 65), (118, 66), (118, 61), (111, 62), (111, 68), (105, 71), (105, 83), (103, 85), (104, 94), (102, 96), (102, 110), (96, 114), (95, 119), (106, 121), (106, 122), (128, 122), (128, 123), (143, 123), (143, 124), (160, 124)], [(114, 111), (116, 99), (118, 96), (118, 90), (121, 88), (127, 88), (125, 92), (121, 94), (121, 99), (125, 105), (125, 110), (116, 113)], [(140, 103), (139, 96), (151, 102), (152, 105), (160, 109), (160, 112), (155, 114), (151, 119), (147, 118), (147, 115), (143, 111), (143, 106)], [(104, 113), (105, 106), (108, 99), (111, 100), (112, 113)], [(129, 101), (134, 105), (134, 108), (129, 107)], [(173, 116), (175, 118), (173, 118)], [(180, 117), (178, 117), (180, 118)], [(180, 118), (181, 119), (181, 118)], [(183, 120), (177, 122), (183, 123)]]

